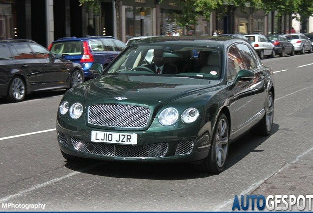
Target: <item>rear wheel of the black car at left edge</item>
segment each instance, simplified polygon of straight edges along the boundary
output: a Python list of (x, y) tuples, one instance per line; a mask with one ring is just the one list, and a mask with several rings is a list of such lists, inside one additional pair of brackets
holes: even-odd
[(26, 86), (24, 80), (19, 76), (13, 77), (7, 91), (7, 100), (9, 102), (20, 102), (24, 100), (25, 95)]

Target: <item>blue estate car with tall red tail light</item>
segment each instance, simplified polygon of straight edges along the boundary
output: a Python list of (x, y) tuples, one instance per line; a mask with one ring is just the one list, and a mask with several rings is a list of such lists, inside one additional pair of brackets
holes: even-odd
[(111, 36), (90, 36), (60, 38), (50, 44), (49, 50), (61, 54), (63, 59), (80, 63), (88, 80), (98, 76), (89, 70), (94, 63), (107, 66), (125, 47), (125, 43)]

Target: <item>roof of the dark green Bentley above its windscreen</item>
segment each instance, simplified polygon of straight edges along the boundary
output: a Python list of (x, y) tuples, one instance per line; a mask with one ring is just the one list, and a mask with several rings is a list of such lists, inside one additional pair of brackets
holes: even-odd
[(218, 36), (161, 36), (161, 37), (151, 37), (140, 41), (137, 41), (135, 45), (141, 44), (161, 44), (161, 45), (190, 45), (199, 47), (215, 47), (222, 48), (225, 45), (229, 45), (235, 42), (245, 42), (241, 39), (232, 39), (227, 37)]

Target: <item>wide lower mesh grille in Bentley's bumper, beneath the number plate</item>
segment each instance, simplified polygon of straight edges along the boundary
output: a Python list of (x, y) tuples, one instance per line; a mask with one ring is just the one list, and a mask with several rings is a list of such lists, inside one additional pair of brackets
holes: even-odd
[(147, 146), (114, 145), (95, 142), (85, 142), (71, 137), (74, 149), (77, 151), (108, 157), (156, 158), (164, 157), (168, 143)]

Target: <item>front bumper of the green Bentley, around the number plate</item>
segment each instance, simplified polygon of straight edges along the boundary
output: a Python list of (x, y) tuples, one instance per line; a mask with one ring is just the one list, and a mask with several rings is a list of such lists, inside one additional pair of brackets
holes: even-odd
[[(108, 161), (193, 162), (208, 156), (210, 140), (184, 132), (138, 132), (138, 145), (120, 145), (91, 141), (91, 129), (73, 131), (57, 122), (57, 136), (61, 151), (66, 154)], [(180, 135), (180, 136), (178, 136)]]

